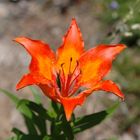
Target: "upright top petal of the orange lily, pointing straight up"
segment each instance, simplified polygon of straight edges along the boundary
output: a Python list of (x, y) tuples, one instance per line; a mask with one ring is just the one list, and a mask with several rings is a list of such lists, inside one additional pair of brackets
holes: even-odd
[(75, 19), (72, 19), (71, 26), (64, 36), (63, 44), (57, 50), (57, 68), (61, 68), (61, 64), (64, 63), (64, 72), (67, 75), (69, 73), (70, 59), (71, 71), (74, 70), (77, 60), (80, 55), (84, 52), (84, 43), (82, 35)]

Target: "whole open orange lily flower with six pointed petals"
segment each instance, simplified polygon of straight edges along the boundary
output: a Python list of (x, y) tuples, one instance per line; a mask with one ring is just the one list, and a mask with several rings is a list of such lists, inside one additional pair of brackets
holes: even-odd
[(29, 73), (17, 84), (17, 90), (37, 85), (46, 96), (63, 105), (67, 120), (77, 105), (95, 90), (112, 92), (124, 99), (118, 86), (103, 80), (112, 61), (125, 48), (123, 44), (101, 44), (85, 51), (82, 34), (75, 19), (63, 38), (56, 54), (48, 44), (39, 40), (18, 37), (16, 42), (31, 55)]

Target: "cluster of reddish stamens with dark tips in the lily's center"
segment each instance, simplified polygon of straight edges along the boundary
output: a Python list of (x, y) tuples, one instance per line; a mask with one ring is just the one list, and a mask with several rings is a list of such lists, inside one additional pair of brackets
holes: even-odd
[(65, 71), (64, 71), (65, 63), (61, 64), (61, 69), (60, 69), (60, 73), (58, 76), (58, 79), (59, 79), (58, 86), (60, 88), (60, 92), (61, 92), (62, 96), (64, 96), (64, 97), (70, 96), (73, 94), (73, 91), (76, 88), (75, 85), (77, 82), (77, 78), (81, 74), (78, 61), (76, 61), (74, 69), (71, 70), (72, 69), (72, 61), (73, 61), (73, 59), (71, 57), (70, 61), (69, 61), (68, 74), (65, 74)]

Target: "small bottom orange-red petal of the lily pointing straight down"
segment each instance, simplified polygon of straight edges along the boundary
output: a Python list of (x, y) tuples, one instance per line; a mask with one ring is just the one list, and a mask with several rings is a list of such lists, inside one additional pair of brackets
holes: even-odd
[(84, 94), (79, 94), (76, 97), (60, 97), (60, 102), (64, 107), (67, 121), (70, 120), (73, 110), (77, 105), (82, 105), (85, 100)]

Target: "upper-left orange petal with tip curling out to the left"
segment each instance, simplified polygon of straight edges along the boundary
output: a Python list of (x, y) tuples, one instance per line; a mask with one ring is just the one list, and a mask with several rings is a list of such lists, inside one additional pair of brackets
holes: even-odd
[(48, 80), (52, 79), (52, 63), (55, 55), (49, 46), (39, 40), (32, 40), (26, 37), (15, 39), (16, 42), (24, 46), (32, 56), (30, 72), (34, 76), (41, 76)]

